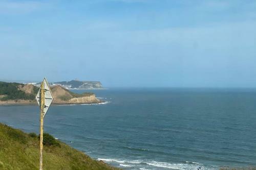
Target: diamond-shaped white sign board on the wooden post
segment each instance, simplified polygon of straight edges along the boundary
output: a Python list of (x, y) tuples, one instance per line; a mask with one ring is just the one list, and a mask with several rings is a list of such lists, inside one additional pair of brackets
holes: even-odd
[[(45, 117), (46, 112), (48, 111), (48, 109), (49, 109), (49, 107), (50, 107), (50, 105), (51, 105), (51, 103), (53, 101), (53, 95), (52, 95), (50, 86), (49, 86), (46, 78), (44, 79), (43, 83), (44, 83), (44, 89), (45, 89), (45, 108), (44, 108), (43, 115)], [(39, 107), (41, 108), (41, 87), (40, 87), (40, 89), (39, 89), (35, 99), (36, 99)]]

